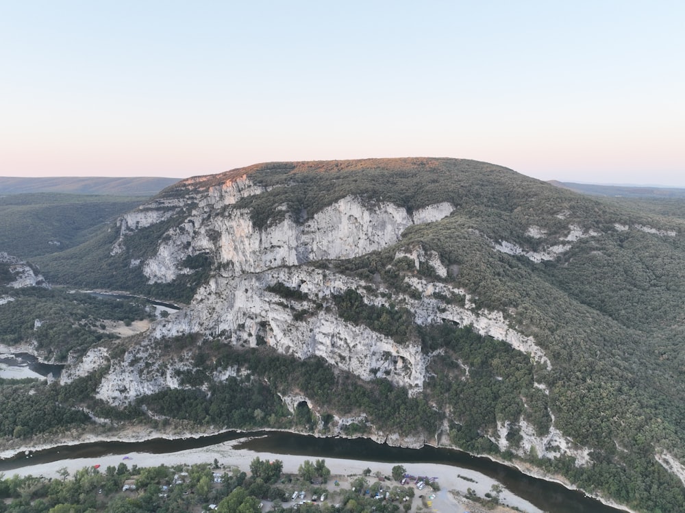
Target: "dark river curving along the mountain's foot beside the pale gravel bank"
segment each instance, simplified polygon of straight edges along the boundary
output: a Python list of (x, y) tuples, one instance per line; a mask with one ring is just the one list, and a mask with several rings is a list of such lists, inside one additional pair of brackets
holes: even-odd
[(341, 458), (369, 462), (391, 463), (438, 463), (477, 471), (496, 479), (519, 497), (529, 501), (540, 510), (553, 513), (625, 513), (599, 501), (586, 497), (583, 492), (569, 490), (564, 486), (530, 477), (510, 466), (493, 462), (453, 449), (423, 447), (403, 449), (378, 444), (367, 438), (318, 438), (284, 431), (226, 431), (222, 434), (168, 440), (158, 438), (144, 442), (92, 442), (79, 445), (53, 447), (29, 454), (20, 453), (14, 458), (0, 460), (0, 472), (9, 473), (23, 466), (72, 460), (76, 458), (99, 458), (103, 455), (129, 453), (166, 454), (211, 448), (229, 440), (241, 440), (238, 450), (263, 453), (306, 455), (312, 458)]

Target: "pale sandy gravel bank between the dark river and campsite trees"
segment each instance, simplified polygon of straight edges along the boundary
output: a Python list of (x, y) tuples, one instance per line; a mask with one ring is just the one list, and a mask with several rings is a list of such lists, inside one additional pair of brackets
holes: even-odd
[[(283, 470), (286, 473), (297, 473), (297, 468), (304, 460), (315, 460), (312, 456), (299, 455), (284, 455), (273, 453), (257, 453), (245, 449), (234, 449), (234, 445), (240, 443), (241, 440), (232, 440), (224, 442), (212, 447), (203, 447), (200, 449), (188, 449), (187, 451), (179, 451), (177, 453), (169, 454), (151, 454), (151, 453), (130, 453), (125, 460), (125, 463), (131, 467), (138, 465), (158, 466), (165, 464), (173, 466), (176, 464), (201, 464), (214, 462), (214, 458), (219, 460), (219, 464), (226, 467), (237, 466), (243, 471), (249, 472), (250, 462), (259, 456), (262, 460), (281, 460), (283, 462)], [(436, 492), (436, 497), (433, 501), (433, 510), (438, 512), (456, 512), (463, 513), (466, 511), (476, 512), (479, 508), (466, 502), (460, 501), (460, 494), (466, 494), (467, 488), (475, 490), (479, 497), (484, 497), (494, 484), (499, 484), (495, 479), (487, 477), (481, 473), (470, 471), (464, 468), (458, 468), (449, 465), (429, 464), (429, 463), (382, 463), (371, 462), (363, 460), (343, 460), (337, 458), (325, 458), (326, 465), (330, 468), (332, 475), (338, 476), (341, 485), (347, 488), (347, 483), (353, 479), (353, 476), (361, 475), (365, 468), (371, 468), (371, 476), (369, 482), (375, 481), (375, 474), (377, 471), (383, 475), (390, 475), (392, 468), (396, 464), (403, 464), (408, 473), (412, 475), (429, 475), (431, 477), (438, 477), (440, 484), (440, 491)], [(22, 468), (16, 468), (8, 471), (10, 475), (42, 475), (44, 477), (60, 477), (58, 471), (60, 468), (66, 467), (69, 473), (74, 473), (85, 466), (95, 464), (101, 465), (103, 468), (107, 466), (117, 466), (123, 461), (121, 455), (105, 455), (101, 458), (79, 458), (75, 460), (62, 460), (58, 462), (45, 463), (40, 465), (29, 465)], [(462, 477), (466, 479), (462, 479)], [(425, 491), (425, 489), (424, 489)], [(416, 495), (420, 495), (418, 492)], [(543, 513), (542, 510), (536, 508), (531, 503), (517, 497), (509, 490), (504, 490), (500, 495), (501, 502), (506, 505), (511, 505), (519, 510), (527, 513)], [(492, 511), (492, 510), (490, 510)], [(507, 511), (506, 509), (500, 511)]]

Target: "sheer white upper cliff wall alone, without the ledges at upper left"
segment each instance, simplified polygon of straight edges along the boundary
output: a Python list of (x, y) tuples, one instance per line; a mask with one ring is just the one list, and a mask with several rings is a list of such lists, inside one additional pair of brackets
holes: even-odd
[(256, 228), (248, 210), (222, 216), (193, 216), (167, 233), (158, 253), (143, 265), (149, 283), (167, 283), (190, 273), (180, 264), (189, 255), (209, 253), (225, 275), (258, 273), (277, 266), (325, 258), (352, 258), (397, 242), (407, 227), (438, 221), (453, 211), (449, 203), (417, 210), (412, 218), (393, 203), (366, 205), (345, 197), (314, 214), (303, 225), (286, 214), (282, 221)]

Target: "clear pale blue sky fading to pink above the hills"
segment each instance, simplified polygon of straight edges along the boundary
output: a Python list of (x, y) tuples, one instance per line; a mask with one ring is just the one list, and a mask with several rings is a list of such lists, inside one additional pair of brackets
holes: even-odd
[(683, 1), (0, 0), (0, 175), (448, 156), (685, 186)]

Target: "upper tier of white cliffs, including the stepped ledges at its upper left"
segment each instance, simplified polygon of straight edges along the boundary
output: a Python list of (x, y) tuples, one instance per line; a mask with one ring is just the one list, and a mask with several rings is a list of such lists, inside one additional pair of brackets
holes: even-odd
[[(453, 212), (450, 203), (436, 203), (412, 214), (393, 203), (345, 197), (301, 223), (299, 213), (288, 212), (275, 223), (256, 227), (249, 210), (234, 205), (265, 192), (265, 186), (247, 175), (203, 187), (203, 179), (189, 179), (183, 198), (160, 197), (119, 218), (120, 234), (112, 254), (125, 249), (126, 238), (138, 229), (175, 216), (182, 221), (164, 234), (156, 254), (144, 262), (149, 283), (169, 283), (191, 273), (183, 265), (192, 255), (210, 255), (223, 275), (258, 273), (277, 266), (299, 265), (325, 258), (351, 258), (397, 242), (414, 224), (439, 221)], [(282, 208), (277, 208), (282, 210)], [(185, 214), (189, 211), (189, 214)]]

